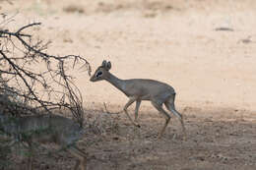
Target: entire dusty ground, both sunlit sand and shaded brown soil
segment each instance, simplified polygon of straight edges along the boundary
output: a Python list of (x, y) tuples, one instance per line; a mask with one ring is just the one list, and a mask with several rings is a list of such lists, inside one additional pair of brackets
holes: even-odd
[[(89, 169), (256, 169), (255, 1), (12, 2), (0, 1), (1, 13), (19, 11), (9, 27), (41, 22), (40, 37), (53, 41), (49, 53), (80, 54), (94, 70), (110, 60), (122, 79), (157, 79), (177, 91), (187, 142), (176, 119), (157, 141), (163, 120), (146, 102), (140, 130), (123, 114), (112, 115), (115, 128), (81, 142)], [(103, 102), (115, 112), (127, 101), (105, 82), (77, 77), (91, 117), (103, 114)], [(41, 169), (70, 169), (74, 160), (65, 155), (54, 163), (35, 162)]]

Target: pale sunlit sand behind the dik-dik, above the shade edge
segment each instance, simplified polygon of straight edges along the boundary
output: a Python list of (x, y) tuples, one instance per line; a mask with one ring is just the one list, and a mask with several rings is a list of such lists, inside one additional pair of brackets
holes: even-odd
[[(179, 107), (256, 109), (254, 0), (9, 2), (0, 1), (1, 13), (18, 12), (9, 27), (41, 22), (38, 34), (53, 41), (48, 53), (80, 54), (93, 71), (110, 60), (121, 79), (165, 82)], [(77, 77), (87, 105), (127, 101), (106, 82), (90, 83), (86, 72)]]

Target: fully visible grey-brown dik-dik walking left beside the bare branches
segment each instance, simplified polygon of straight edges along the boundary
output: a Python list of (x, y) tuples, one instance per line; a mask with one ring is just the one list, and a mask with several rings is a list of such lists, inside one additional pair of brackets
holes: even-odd
[[(161, 129), (158, 136), (160, 139), (170, 120), (170, 115), (162, 108), (162, 104), (164, 103), (167, 110), (177, 116), (180, 120), (185, 138), (186, 134), (183, 118), (182, 115), (175, 109), (174, 100), (176, 93), (172, 86), (147, 79), (121, 80), (112, 75), (109, 72), (110, 69), (111, 63), (104, 60), (102, 64), (96, 69), (96, 72), (90, 81), (97, 82), (105, 80), (111, 85), (117, 87), (129, 97), (129, 101), (124, 106), (124, 112), (134, 126), (140, 127), (138, 124), (138, 111), (141, 101), (150, 100), (153, 106), (158, 109), (160, 114), (162, 114), (165, 118), (165, 124), (163, 125), (163, 128)], [(135, 101), (135, 120), (133, 121), (127, 112), (127, 108)]]

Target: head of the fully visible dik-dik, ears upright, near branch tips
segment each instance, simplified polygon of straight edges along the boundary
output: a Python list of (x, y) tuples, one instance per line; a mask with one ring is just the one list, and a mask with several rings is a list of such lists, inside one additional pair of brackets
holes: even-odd
[(108, 75), (108, 71), (111, 69), (111, 63), (106, 62), (105, 60), (103, 60), (101, 66), (99, 66), (96, 69), (96, 73), (91, 77), (90, 81), (91, 82), (97, 82), (97, 81), (102, 81), (105, 80), (107, 75)]

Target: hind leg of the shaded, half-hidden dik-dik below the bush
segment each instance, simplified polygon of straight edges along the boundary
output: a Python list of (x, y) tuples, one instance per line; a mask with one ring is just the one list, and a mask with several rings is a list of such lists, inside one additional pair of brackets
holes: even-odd
[(73, 154), (75, 157), (78, 158), (74, 169), (77, 170), (80, 167), (81, 170), (86, 170), (87, 169), (87, 154), (75, 145), (68, 147), (67, 150), (71, 154)]

